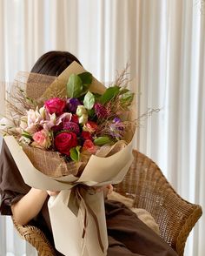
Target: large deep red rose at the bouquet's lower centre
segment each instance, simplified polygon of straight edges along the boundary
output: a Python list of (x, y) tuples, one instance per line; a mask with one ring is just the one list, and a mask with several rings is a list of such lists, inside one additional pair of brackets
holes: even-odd
[(54, 143), (58, 152), (69, 156), (69, 150), (77, 145), (76, 133), (63, 131), (56, 136)]

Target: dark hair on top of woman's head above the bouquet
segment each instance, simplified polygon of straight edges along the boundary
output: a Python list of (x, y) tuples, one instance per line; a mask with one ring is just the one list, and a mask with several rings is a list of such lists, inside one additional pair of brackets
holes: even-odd
[(36, 61), (31, 72), (59, 76), (73, 61), (80, 61), (68, 51), (49, 51)]

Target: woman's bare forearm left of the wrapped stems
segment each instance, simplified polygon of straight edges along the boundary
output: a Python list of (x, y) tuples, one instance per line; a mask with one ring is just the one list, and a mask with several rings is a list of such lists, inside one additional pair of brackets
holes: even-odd
[(41, 211), (48, 193), (36, 188), (31, 188), (30, 192), (23, 196), (16, 204), (11, 205), (14, 219), (19, 225), (27, 224), (30, 219), (36, 217)]

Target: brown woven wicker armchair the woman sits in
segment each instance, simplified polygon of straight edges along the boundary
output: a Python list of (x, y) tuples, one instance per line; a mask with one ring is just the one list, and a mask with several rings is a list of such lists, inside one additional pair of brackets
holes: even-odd
[[(155, 163), (134, 151), (134, 161), (116, 192), (134, 199), (134, 206), (146, 209), (160, 227), (160, 236), (182, 256), (189, 232), (202, 215), (202, 207), (182, 199)], [(40, 256), (54, 256), (54, 250), (41, 230), (35, 226), (19, 226), (23, 239), (36, 247)]]

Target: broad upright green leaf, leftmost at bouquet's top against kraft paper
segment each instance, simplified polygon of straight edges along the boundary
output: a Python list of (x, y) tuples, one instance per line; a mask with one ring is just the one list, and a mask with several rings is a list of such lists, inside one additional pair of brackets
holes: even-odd
[(83, 91), (83, 82), (82, 79), (76, 75), (72, 74), (69, 77), (67, 84), (67, 96), (69, 98), (78, 98)]

